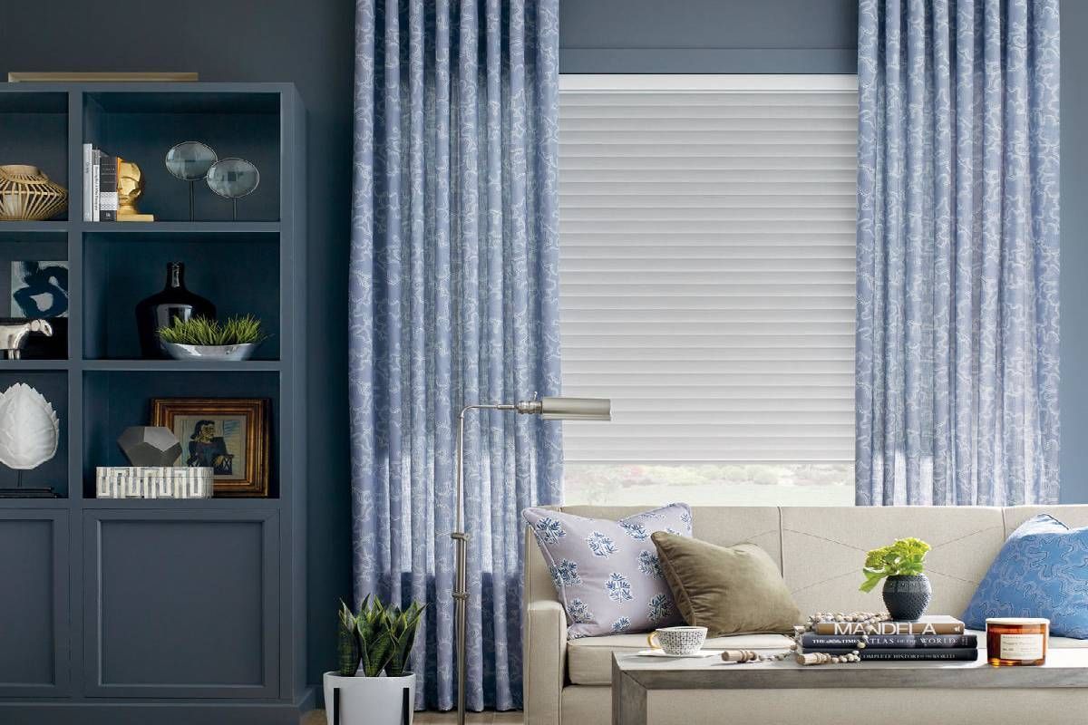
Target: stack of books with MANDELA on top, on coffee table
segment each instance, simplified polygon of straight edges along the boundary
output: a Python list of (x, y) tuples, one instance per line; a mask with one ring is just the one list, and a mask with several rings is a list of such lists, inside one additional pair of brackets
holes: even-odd
[(856, 651), (862, 660), (978, 659), (978, 638), (965, 634), (963, 622), (944, 615), (877, 624), (821, 622), (801, 636), (801, 648), (828, 654)]

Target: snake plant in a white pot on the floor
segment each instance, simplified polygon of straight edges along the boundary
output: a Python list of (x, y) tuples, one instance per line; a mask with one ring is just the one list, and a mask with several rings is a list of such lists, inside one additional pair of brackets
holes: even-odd
[(358, 613), (341, 602), (339, 670), (324, 675), (329, 725), (411, 724), (416, 675), (408, 660), (422, 617), (416, 602), (401, 610), (368, 596)]

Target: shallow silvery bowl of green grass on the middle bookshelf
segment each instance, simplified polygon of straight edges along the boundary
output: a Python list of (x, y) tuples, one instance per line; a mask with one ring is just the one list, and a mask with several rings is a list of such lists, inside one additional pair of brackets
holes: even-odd
[(174, 317), (169, 327), (158, 329), (159, 343), (174, 360), (249, 360), (268, 335), (252, 315), (226, 322)]

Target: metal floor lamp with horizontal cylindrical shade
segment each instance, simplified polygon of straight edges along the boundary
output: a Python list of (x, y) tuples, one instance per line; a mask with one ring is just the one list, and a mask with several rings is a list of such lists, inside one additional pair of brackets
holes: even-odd
[(472, 410), (516, 411), (522, 415), (540, 415), (545, 421), (610, 421), (611, 401), (607, 398), (541, 398), (519, 403), (477, 403), (461, 409), (457, 429), (457, 526), (449, 537), (454, 540), (455, 566), (454, 607), (457, 613), (457, 725), (465, 725), (465, 617), (468, 605), (469, 535), (465, 533), (465, 414)]

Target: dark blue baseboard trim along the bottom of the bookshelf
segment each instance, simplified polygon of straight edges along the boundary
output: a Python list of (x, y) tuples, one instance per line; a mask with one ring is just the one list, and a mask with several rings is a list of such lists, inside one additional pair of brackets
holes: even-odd
[(313, 690), (289, 702), (0, 702), (3, 725), (298, 725)]

